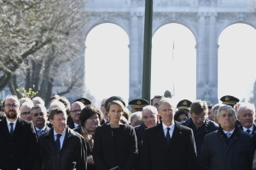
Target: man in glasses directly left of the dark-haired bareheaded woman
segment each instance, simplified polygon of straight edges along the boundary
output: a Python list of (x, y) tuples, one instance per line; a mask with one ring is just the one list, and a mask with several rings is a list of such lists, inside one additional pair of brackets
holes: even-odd
[(73, 105), (71, 105), (70, 116), (72, 117), (72, 121), (67, 123), (67, 126), (71, 129), (77, 128), (81, 125), (79, 116), (80, 112), (84, 109), (84, 104), (79, 101), (75, 101)]

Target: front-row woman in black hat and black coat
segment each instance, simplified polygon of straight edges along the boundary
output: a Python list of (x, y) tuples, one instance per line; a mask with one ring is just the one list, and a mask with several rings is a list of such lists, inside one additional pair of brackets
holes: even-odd
[(120, 123), (125, 106), (118, 100), (108, 103), (110, 122), (96, 128), (93, 158), (96, 169), (132, 170), (137, 163), (137, 137), (133, 127)]

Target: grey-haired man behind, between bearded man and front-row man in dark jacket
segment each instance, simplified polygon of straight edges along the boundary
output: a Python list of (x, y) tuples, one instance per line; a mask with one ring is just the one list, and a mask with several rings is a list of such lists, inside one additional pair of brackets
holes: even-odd
[(44, 105), (37, 104), (32, 107), (32, 122), (35, 126), (37, 136), (49, 131), (50, 127), (46, 125), (47, 111)]

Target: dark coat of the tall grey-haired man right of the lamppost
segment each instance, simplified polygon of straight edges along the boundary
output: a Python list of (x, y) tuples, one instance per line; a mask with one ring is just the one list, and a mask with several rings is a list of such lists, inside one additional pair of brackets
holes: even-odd
[(195, 139), (191, 128), (175, 122), (170, 144), (166, 143), (162, 122), (145, 130), (141, 170), (195, 170)]

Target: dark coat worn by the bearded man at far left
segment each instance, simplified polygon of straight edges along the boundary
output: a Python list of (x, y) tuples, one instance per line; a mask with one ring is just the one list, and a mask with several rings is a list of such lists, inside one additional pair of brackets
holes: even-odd
[(0, 169), (32, 169), (37, 155), (37, 135), (32, 122), (17, 119), (13, 136), (6, 118), (0, 122)]

